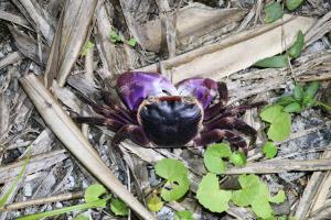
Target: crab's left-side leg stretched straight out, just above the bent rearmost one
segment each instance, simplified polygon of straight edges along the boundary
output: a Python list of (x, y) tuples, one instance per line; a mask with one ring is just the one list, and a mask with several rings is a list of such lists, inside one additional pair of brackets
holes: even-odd
[(116, 119), (107, 119), (103, 117), (75, 117), (73, 118), (77, 123), (87, 123), (93, 125), (107, 127), (109, 130), (117, 132), (125, 124)]

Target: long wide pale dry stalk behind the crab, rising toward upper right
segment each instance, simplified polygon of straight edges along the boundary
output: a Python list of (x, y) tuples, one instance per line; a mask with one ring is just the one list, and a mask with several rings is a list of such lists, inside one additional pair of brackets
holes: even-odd
[[(313, 23), (314, 20), (310, 18), (285, 15), (281, 21), (273, 24), (242, 32), (221, 43), (167, 59), (162, 62), (162, 66), (170, 72), (168, 75), (173, 76), (174, 82), (194, 76), (218, 80), (259, 59), (284, 52), (292, 44), (299, 30), (306, 33)], [(159, 72), (159, 64), (137, 70)]]

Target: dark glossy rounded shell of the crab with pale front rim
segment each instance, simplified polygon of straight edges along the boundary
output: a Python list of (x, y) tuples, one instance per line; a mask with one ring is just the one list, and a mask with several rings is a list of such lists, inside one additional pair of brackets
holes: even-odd
[(150, 97), (138, 109), (138, 122), (159, 146), (183, 146), (193, 140), (203, 120), (203, 108), (194, 97)]

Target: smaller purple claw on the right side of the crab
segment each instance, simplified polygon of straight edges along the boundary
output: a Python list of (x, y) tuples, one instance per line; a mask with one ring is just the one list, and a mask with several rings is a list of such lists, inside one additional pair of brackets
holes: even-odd
[(217, 95), (217, 82), (209, 78), (189, 78), (177, 84), (180, 96), (194, 96), (205, 109)]

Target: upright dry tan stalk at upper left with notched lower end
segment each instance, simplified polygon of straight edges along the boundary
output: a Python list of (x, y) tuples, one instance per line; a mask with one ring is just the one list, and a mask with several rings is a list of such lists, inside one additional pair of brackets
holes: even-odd
[(52, 86), (54, 77), (60, 87), (64, 86), (85, 43), (97, 2), (97, 0), (66, 1), (53, 37), (44, 76), (46, 87)]

